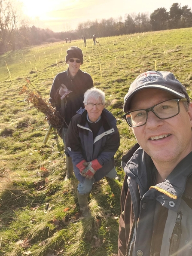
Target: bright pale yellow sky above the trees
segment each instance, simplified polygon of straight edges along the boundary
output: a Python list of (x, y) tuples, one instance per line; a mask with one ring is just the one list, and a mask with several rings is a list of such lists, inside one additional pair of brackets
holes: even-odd
[(76, 29), (80, 22), (100, 21), (102, 18), (122, 17), (128, 14), (152, 13), (165, 7), (169, 11), (173, 3), (188, 5), (192, 0), (20, 0), (24, 14), (34, 21), (34, 25), (49, 28), (54, 32)]

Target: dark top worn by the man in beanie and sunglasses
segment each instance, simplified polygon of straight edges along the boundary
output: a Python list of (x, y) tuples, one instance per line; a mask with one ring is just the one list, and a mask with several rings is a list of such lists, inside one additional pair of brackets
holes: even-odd
[[(93, 87), (93, 80), (88, 73), (79, 70), (76, 76), (71, 79), (68, 76), (68, 69), (64, 72), (58, 73), (53, 80), (52, 88), (50, 91), (51, 104), (60, 111), (62, 122), (64, 127), (67, 128), (71, 118), (76, 115), (76, 111), (80, 107), (84, 107), (83, 97), (85, 91)], [(61, 100), (59, 89), (62, 84), (67, 87), (68, 90), (72, 91)]]

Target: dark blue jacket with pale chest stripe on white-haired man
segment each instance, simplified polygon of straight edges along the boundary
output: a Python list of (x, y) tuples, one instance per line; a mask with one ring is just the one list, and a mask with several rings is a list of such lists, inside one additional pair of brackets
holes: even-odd
[(90, 162), (97, 158), (100, 165), (103, 166), (94, 174), (95, 181), (101, 180), (115, 165), (114, 155), (120, 143), (116, 119), (106, 109), (102, 111), (101, 118), (102, 126), (94, 139), (85, 109), (80, 109), (76, 116), (73, 116), (67, 130), (67, 149), (72, 157), (75, 176), (79, 181), (85, 178), (79, 174), (76, 165), (84, 159)]

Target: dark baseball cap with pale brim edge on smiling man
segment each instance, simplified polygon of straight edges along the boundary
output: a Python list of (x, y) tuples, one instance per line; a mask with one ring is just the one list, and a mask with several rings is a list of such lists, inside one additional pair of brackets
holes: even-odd
[(167, 91), (179, 99), (187, 98), (190, 101), (185, 86), (175, 78), (173, 73), (154, 70), (146, 71), (137, 76), (134, 82), (131, 83), (128, 93), (124, 97), (125, 104), (123, 110), (125, 113), (130, 110), (132, 96), (138, 91), (148, 88)]

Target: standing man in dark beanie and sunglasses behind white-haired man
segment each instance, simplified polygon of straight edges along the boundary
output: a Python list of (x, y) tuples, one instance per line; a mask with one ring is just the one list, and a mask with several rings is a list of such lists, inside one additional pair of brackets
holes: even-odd
[(67, 174), (64, 180), (67, 180), (73, 175), (72, 160), (65, 145), (67, 128), (71, 118), (76, 115), (76, 111), (84, 107), (84, 93), (93, 87), (93, 80), (88, 73), (80, 70), (83, 64), (83, 52), (79, 47), (71, 46), (67, 49), (65, 62), (68, 68), (55, 76), (49, 101), (61, 115), (62, 126), (58, 127), (58, 134), (65, 146)]

